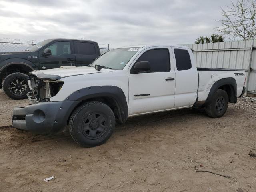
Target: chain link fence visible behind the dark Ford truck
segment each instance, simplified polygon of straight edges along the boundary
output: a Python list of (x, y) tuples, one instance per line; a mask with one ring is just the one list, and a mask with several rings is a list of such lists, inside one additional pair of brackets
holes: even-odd
[[(0, 38), (0, 52), (25, 51), (39, 42), (38, 40)], [(99, 46), (101, 54), (109, 51), (109, 44), (100, 44)]]

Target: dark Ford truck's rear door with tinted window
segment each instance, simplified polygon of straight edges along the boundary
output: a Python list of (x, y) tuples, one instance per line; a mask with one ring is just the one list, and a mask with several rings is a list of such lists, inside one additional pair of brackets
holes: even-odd
[(100, 56), (98, 44), (94, 42), (74, 41), (74, 49), (76, 55), (76, 66), (88, 66), (98, 56)]

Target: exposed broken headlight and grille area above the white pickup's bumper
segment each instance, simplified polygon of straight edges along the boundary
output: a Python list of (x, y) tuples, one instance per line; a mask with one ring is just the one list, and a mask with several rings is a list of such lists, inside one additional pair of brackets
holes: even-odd
[(60, 81), (58, 75), (46, 75), (43, 73), (33, 74), (30, 72), (28, 86), (30, 91), (27, 93), (28, 99), (32, 103), (50, 101), (62, 88), (64, 82)]

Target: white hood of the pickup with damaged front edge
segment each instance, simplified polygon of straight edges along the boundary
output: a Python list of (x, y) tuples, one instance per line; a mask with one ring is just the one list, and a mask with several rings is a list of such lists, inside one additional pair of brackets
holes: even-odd
[(32, 71), (30, 74), (36, 75), (38, 78), (42, 79), (60, 79), (67, 76), (92, 74), (92, 73), (104, 73), (112, 72), (112, 69), (101, 69), (97, 71), (93, 67), (75, 67), (75, 66), (63, 66), (56, 69), (47, 69), (41, 71)]

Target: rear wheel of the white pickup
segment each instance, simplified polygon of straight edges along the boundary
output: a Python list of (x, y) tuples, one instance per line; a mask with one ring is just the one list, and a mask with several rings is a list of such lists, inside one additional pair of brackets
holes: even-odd
[(218, 89), (210, 103), (205, 107), (206, 114), (212, 118), (223, 116), (228, 109), (228, 94), (222, 89)]

